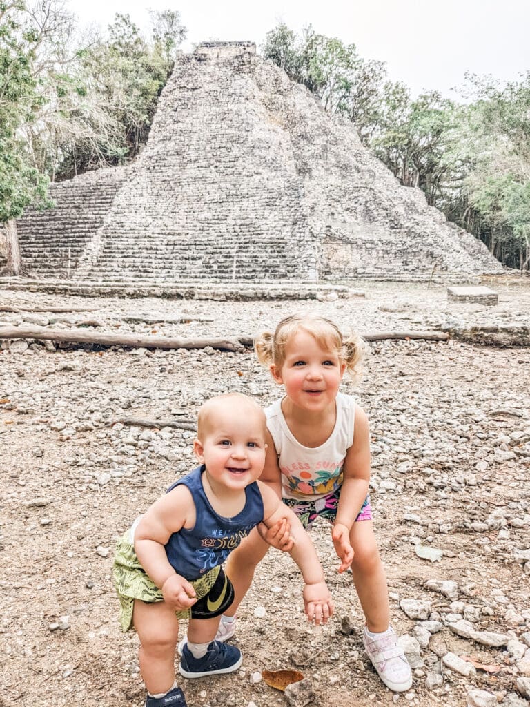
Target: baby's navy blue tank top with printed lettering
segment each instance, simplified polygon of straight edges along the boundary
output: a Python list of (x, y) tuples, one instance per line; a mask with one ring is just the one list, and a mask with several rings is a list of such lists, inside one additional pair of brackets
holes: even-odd
[(253, 527), (263, 520), (263, 499), (256, 481), (245, 488), (245, 508), (234, 518), (223, 518), (210, 505), (202, 485), (204, 464), (190, 474), (175, 481), (184, 484), (192, 493), (195, 503), (195, 525), (174, 532), (165, 545), (167, 559), (172, 568), (187, 580), (198, 579), (213, 567), (222, 565), (230, 552), (247, 537)]

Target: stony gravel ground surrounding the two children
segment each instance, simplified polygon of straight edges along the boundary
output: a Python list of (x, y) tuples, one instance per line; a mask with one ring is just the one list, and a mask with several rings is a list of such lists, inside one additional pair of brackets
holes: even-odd
[[(0, 290), (0, 305), (98, 308), (64, 315), (0, 311), (0, 320), (54, 328), (85, 322), (93, 331), (182, 337), (248, 335), (310, 308), (360, 332), (451, 322), (528, 326), (528, 281), (496, 285), (497, 307), (448, 303), (444, 288), (425, 284), (372, 283), (365, 298), (331, 302), (82, 299)], [(126, 315), (210, 321), (147, 324), (124, 322)], [(141, 707), (138, 640), (119, 632), (112, 551), (131, 520), (192, 468), (193, 432), (109, 424), (124, 416), (194, 420), (201, 402), (217, 392), (247, 392), (265, 406), (279, 391), (252, 351), (24, 348), (0, 350), (0, 705)], [(411, 691), (394, 696), (384, 689), (365, 658), (351, 575), (336, 573), (329, 526), (322, 523), (312, 537), (334, 593), (334, 618), (322, 628), (307, 626), (298, 571), (271, 550), (240, 609), (242, 669), (183, 680), (189, 707), (286, 704), (281, 692), (257, 682), (261, 670), (283, 667), (304, 672), (317, 706), (529, 705), (529, 364), (528, 346), (380, 341), (370, 344), (361, 384), (343, 383), (370, 416), (370, 493), (392, 621), (415, 666)], [(254, 614), (257, 608), (264, 617)], [(297, 694), (290, 700), (303, 704)]]

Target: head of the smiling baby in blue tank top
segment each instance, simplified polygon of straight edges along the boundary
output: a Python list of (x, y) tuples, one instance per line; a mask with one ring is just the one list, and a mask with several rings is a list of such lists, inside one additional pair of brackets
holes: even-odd
[(208, 410), (194, 450), (213, 483), (244, 489), (259, 479), (265, 464), (263, 412), (244, 400), (223, 401)]

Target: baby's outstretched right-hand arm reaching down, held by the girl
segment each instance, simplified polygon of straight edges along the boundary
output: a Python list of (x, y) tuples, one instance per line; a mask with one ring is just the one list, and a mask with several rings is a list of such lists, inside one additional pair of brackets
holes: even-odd
[(293, 537), (290, 556), (297, 563), (304, 578), (303, 596), (307, 618), (315, 624), (325, 624), (334, 612), (334, 604), (311, 539), (293, 511), (280, 501), (269, 486), (261, 481), (258, 483), (264, 503), (265, 525), (272, 527), (282, 518), (286, 518), (290, 524), (290, 534)]

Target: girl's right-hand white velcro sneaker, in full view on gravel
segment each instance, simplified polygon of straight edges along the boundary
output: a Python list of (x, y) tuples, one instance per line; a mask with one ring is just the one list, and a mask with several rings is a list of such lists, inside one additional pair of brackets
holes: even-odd
[(404, 692), (410, 689), (412, 686), (411, 666), (408, 665), (403, 648), (399, 645), (396, 633), (391, 626), (377, 637), (370, 636), (365, 626), (363, 643), (368, 658), (389, 690)]

